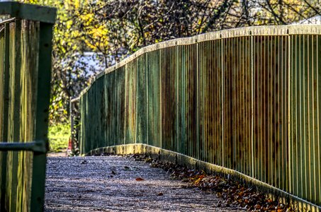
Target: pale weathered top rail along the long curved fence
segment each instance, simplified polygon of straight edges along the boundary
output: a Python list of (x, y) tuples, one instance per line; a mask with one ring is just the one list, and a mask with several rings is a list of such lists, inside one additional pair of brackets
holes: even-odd
[(204, 33), (201, 35), (195, 35), (193, 37), (177, 38), (174, 40), (167, 40), (164, 42), (159, 42), (147, 47), (142, 47), (134, 54), (130, 55), (126, 59), (123, 59), (118, 64), (115, 64), (101, 73), (96, 74), (94, 79), (89, 83), (89, 86), (81, 91), (79, 97), (74, 98), (72, 102), (75, 102), (81, 98), (84, 93), (86, 93), (94, 82), (101, 78), (101, 76), (112, 71), (116, 71), (130, 61), (133, 61), (137, 57), (147, 52), (153, 52), (158, 49), (164, 49), (168, 47), (175, 47), (179, 45), (193, 45), (198, 42), (205, 42), (209, 40), (220, 40), (232, 37), (247, 37), (247, 36), (288, 36), (288, 35), (321, 35), (321, 25), (269, 25), (269, 26), (251, 26), (244, 28), (233, 28), (228, 30), (220, 30), (211, 33)]

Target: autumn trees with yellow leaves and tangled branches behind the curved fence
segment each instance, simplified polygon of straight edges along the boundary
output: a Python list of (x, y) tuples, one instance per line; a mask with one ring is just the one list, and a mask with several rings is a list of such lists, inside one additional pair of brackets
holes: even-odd
[[(22, 0), (58, 8), (51, 122), (67, 122), (69, 98), (87, 85), (84, 52), (108, 67), (141, 47), (249, 25), (286, 25), (321, 15), (317, 0)], [(91, 70), (94, 73), (95, 70)]]

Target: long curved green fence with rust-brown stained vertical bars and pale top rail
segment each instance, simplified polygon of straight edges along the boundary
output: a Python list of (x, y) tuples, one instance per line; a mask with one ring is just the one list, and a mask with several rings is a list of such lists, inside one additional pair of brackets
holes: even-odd
[(320, 210), (320, 55), (321, 25), (223, 30), (145, 47), (81, 93), (80, 151), (145, 143)]

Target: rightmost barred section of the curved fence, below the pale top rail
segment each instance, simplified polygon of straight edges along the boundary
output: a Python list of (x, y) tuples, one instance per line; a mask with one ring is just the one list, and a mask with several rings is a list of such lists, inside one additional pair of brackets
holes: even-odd
[(320, 203), (320, 68), (321, 36), (292, 35), (289, 42), (291, 81), (288, 93), (289, 189), (293, 194)]

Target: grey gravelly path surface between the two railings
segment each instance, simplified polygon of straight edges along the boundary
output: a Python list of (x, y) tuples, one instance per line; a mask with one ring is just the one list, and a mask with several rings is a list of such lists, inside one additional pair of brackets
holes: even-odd
[(130, 158), (49, 157), (45, 211), (238, 211), (186, 185)]

